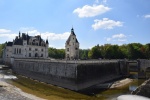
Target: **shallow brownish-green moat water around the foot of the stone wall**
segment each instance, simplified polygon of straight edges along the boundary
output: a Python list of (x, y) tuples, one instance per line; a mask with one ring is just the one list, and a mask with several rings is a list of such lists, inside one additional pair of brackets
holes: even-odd
[[(116, 98), (123, 94), (130, 94), (131, 91), (135, 90), (139, 85), (141, 85), (144, 80), (137, 79), (136, 73), (132, 73), (130, 79), (132, 82), (129, 84), (123, 85), (121, 87), (104, 89), (101, 87), (93, 87), (86, 89), (84, 91), (74, 92), (68, 89), (63, 89), (58, 86), (49, 85), (46, 83), (40, 83), (22, 77), (19, 75), (13, 75), (11, 70), (1, 70), (0, 74), (3, 75), (3, 80), (13, 86), (20, 88), (22, 91), (29, 94), (33, 94), (37, 97), (44, 99), (53, 99), (53, 100), (70, 100), (70, 99), (100, 99), (100, 100), (116, 100)], [(17, 77), (17, 78), (16, 78)], [(123, 80), (123, 79), (118, 79)], [(107, 84), (112, 84), (115, 81), (108, 82)]]

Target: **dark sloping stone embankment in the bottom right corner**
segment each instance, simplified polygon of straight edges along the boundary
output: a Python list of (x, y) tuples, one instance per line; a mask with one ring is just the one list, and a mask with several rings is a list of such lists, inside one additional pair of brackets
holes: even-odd
[(150, 79), (146, 80), (141, 86), (133, 91), (132, 94), (150, 98)]

